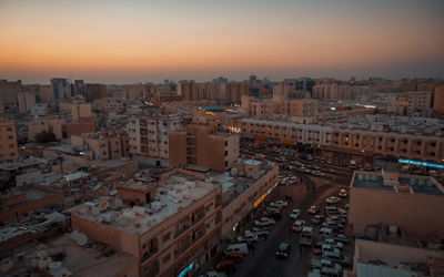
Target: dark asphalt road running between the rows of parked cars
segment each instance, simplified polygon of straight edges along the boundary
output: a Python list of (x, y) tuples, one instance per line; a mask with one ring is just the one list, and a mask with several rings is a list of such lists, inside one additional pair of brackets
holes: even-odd
[[(304, 182), (305, 183), (305, 182)], [(312, 186), (310, 183), (305, 183), (309, 187)], [(258, 277), (285, 277), (285, 276), (300, 276), (297, 273), (300, 261), (300, 246), (299, 246), (299, 234), (290, 230), (292, 220), (290, 218), (290, 212), (293, 208), (301, 208), (301, 218), (310, 223), (311, 216), (306, 213), (309, 206), (320, 203), (325, 196), (336, 192), (337, 188), (330, 185), (323, 185), (310, 193), (300, 205), (289, 206), (282, 212), (282, 219), (271, 228), (268, 240), (259, 242), (255, 245), (254, 253), (246, 256), (245, 260), (238, 264), (238, 270), (232, 276), (258, 276)], [(310, 225), (310, 224), (309, 224)], [(289, 243), (292, 246), (292, 253), (286, 259), (278, 259), (275, 252), (280, 243)], [(307, 252), (307, 248), (302, 248), (303, 252)]]

